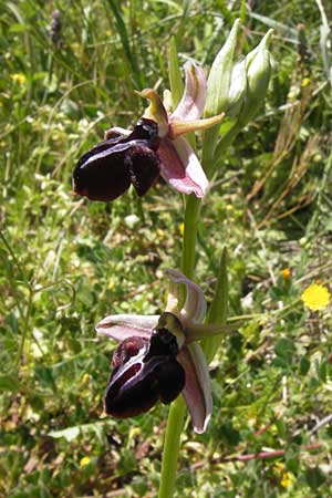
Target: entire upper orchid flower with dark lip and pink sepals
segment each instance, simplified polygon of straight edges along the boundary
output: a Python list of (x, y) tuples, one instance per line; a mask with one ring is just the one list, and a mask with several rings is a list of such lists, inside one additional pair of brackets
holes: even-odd
[(206, 174), (184, 135), (209, 128), (224, 114), (201, 120), (207, 82), (204, 70), (188, 61), (183, 97), (173, 113), (153, 89), (139, 95), (151, 101), (134, 129), (111, 128), (105, 141), (85, 153), (73, 174), (76, 194), (91, 200), (113, 200), (133, 184), (144, 195), (159, 175), (176, 190), (204, 197), (208, 188)]

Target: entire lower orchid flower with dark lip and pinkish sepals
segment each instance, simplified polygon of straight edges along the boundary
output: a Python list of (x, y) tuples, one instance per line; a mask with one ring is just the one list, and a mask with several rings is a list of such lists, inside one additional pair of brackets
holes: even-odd
[[(170, 280), (166, 311), (160, 315), (106, 317), (96, 332), (120, 345), (112, 360), (104, 409), (126, 418), (147, 412), (159, 400), (170, 403), (180, 392), (194, 429), (205, 432), (212, 411), (208, 365), (198, 340), (225, 332), (227, 325), (203, 324), (207, 303), (201, 289), (180, 271), (166, 270)], [(179, 309), (179, 286), (186, 300)]]

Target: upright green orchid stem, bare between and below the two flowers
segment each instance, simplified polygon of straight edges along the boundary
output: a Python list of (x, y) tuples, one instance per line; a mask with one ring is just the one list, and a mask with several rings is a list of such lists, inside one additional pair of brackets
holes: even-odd
[[(194, 195), (187, 197), (185, 209), (185, 229), (181, 270), (186, 277), (193, 278), (196, 256), (197, 220), (200, 200)], [(170, 498), (174, 495), (180, 435), (186, 416), (186, 405), (183, 396), (172, 403), (168, 414), (164, 442), (162, 476), (158, 498)]]

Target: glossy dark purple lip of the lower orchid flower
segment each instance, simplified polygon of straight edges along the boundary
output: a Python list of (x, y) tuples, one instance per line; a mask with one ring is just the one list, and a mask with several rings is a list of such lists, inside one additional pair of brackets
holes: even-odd
[(127, 418), (151, 409), (158, 401), (173, 402), (185, 387), (185, 370), (177, 361), (175, 335), (158, 326), (149, 339), (127, 338), (114, 352), (104, 409)]

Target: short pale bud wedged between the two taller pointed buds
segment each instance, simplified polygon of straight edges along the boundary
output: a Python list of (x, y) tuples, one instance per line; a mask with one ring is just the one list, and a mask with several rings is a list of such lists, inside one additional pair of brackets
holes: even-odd
[(228, 116), (237, 116), (245, 104), (247, 95), (246, 59), (234, 65), (228, 92), (226, 113)]

